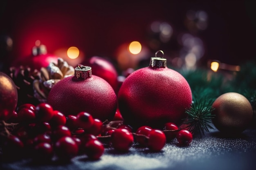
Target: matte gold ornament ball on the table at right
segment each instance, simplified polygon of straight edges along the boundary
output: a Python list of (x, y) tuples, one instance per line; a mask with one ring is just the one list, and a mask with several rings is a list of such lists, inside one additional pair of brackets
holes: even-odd
[(243, 132), (253, 118), (252, 105), (246, 97), (239, 93), (225, 93), (214, 102), (212, 119), (214, 126), (220, 132), (237, 134)]

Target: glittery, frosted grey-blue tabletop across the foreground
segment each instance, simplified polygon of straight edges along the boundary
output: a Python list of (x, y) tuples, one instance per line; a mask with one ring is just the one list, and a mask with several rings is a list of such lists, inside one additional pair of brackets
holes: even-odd
[(53, 162), (35, 165), (31, 160), (1, 161), (0, 170), (251, 170), (256, 167), (255, 156), (255, 129), (229, 138), (212, 130), (204, 137), (195, 137), (185, 147), (179, 146), (174, 139), (161, 152), (150, 152), (135, 144), (126, 153), (106, 148), (97, 161), (89, 160), (85, 155), (65, 164)]

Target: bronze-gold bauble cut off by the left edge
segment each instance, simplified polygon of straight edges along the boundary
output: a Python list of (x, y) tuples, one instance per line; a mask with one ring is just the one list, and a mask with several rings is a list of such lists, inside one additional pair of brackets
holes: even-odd
[(18, 92), (12, 79), (0, 72), (0, 120), (7, 120), (18, 102)]

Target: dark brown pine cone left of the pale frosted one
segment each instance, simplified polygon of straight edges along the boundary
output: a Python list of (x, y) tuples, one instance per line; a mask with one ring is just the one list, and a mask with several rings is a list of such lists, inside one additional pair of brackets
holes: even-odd
[(17, 106), (22, 104), (38, 104), (38, 100), (34, 97), (33, 82), (39, 79), (39, 71), (31, 68), (20, 66), (20, 68), (9, 68), (9, 76), (17, 86), (18, 103)]

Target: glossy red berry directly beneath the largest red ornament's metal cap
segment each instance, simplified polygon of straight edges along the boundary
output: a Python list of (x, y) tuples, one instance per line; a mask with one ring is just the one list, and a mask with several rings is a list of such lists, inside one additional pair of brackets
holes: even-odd
[(164, 148), (166, 143), (166, 137), (162, 130), (152, 129), (148, 133), (148, 145), (147, 147), (155, 152), (158, 152)]

